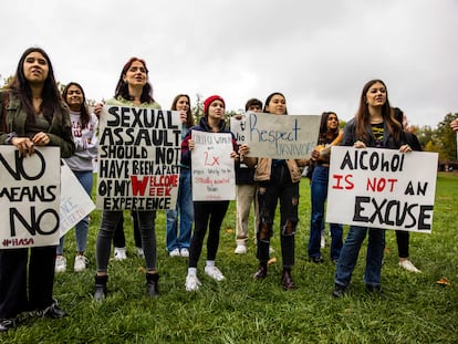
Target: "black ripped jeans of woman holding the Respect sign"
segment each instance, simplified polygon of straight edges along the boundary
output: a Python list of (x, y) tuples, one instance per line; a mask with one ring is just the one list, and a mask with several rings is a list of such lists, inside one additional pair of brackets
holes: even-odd
[(257, 231), (257, 258), (260, 263), (269, 260), (270, 238), (280, 200), (280, 243), (283, 268), (294, 265), (294, 233), (298, 227), (299, 183), (291, 181), (285, 165), (272, 166), (269, 181), (259, 184), (259, 228)]

